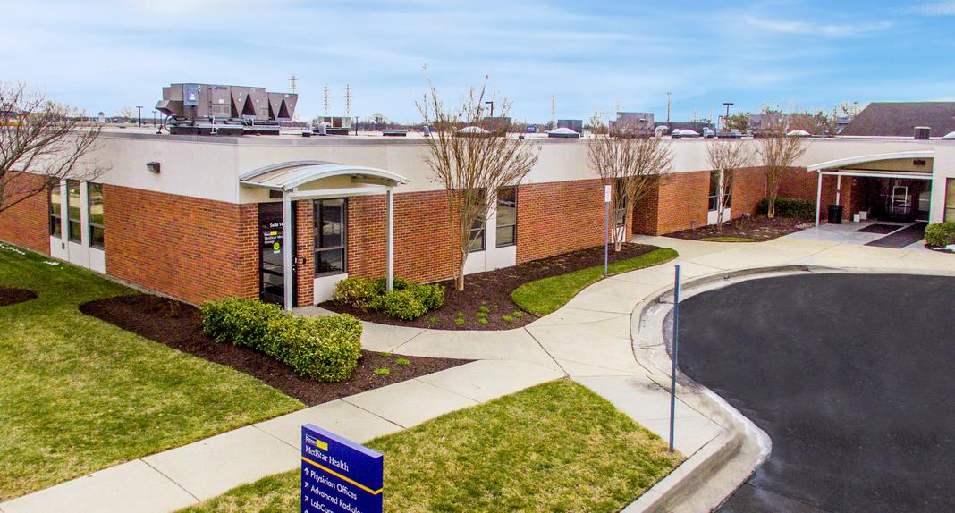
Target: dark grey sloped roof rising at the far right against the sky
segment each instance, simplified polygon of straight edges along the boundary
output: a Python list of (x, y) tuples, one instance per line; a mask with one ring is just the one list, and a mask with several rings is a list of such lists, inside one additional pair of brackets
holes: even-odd
[(915, 127), (931, 137), (955, 131), (955, 101), (880, 101), (870, 103), (841, 135), (911, 138)]

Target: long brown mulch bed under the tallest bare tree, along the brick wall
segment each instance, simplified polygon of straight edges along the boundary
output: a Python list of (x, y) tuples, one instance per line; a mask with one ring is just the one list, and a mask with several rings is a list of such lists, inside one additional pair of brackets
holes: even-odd
[[(609, 260), (610, 262), (626, 260), (654, 249), (659, 249), (659, 247), (625, 244), (620, 252), (615, 252), (611, 246)], [(454, 280), (443, 281), (440, 283), (445, 287), (444, 306), (438, 310), (429, 311), (414, 321), (393, 319), (376, 311), (340, 307), (331, 301), (321, 303), (319, 307), (341, 313), (350, 313), (366, 321), (393, 326), (411, 326), (436, 330), (511, 330), (525, 326), (538, 318), (526, 311), (522, 311), (523, 316), (515, 318), (512, 322), (501, 318), (503, 315), (520, 311), (520, 307), (511, 301), (511, 292), (514, 289), (541, 278), (566, 274), (584, 267), (603, 265), (604, 246), (595, 246), (525, 262), (517, 266), (468, 274), (464, 277), (464, 290), (460, 292), (455, 289)], [(481, 324), (477, 321), (477, 309), (482, 306), (488, 309), (487, 324)], [(460, 326), (455, 323), (458, 311), (464, 312), (465, 322)]]

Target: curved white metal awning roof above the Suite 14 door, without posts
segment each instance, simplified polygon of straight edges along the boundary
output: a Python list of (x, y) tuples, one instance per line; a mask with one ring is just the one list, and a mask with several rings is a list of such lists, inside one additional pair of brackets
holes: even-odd
[(372, 179), (388, 185), (408, 183), (407, 178), (384, 169), (324, 160), (292, 160), (266, 165), (244, 173), (239, 177), (239, 182), (253, 187), (289, 191), (308, 182), (340, 176)]

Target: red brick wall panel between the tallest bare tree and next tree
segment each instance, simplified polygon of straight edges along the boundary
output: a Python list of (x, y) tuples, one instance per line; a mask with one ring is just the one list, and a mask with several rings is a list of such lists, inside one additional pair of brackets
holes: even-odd
[(604, 244), (599, 179), (518, 187), (518, 263)]

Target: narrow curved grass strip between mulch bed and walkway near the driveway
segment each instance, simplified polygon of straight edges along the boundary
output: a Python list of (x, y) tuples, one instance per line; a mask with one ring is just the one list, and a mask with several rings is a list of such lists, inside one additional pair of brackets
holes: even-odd
[[(619, 274), (663, 264), (677, 256), (676, 251), (668, 247), (654, 249), (638, 257), (612, 262), (607, 270), (610, 274)], [(511, 300), (523, 310), (537, 315), (546, 315), (561, 308), (577, 292), (588, 285), (597, 283), (603, 277), (604, 266), (586, 267), (560, 276), (525, 283), (511, 292)]]

